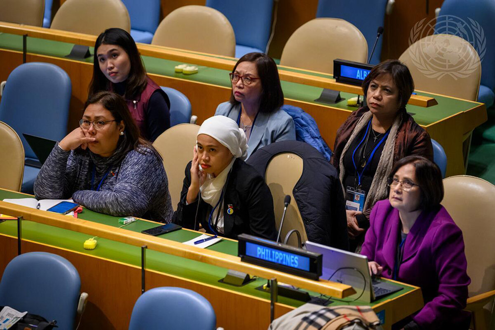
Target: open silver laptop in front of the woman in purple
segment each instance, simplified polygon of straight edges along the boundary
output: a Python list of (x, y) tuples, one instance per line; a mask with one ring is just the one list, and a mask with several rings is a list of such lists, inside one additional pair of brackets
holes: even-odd
[(357, 299), (370, 303), (402, 289), (391, 283), (372, 280), (368, 270), (368, 258), (364, 255), (310, 241), (306, 241), (304, 246), (308, 251), (323, 255), (320, 279), (348, 284), (354, 288), (356, 293), (349, 296), (349, 300)]

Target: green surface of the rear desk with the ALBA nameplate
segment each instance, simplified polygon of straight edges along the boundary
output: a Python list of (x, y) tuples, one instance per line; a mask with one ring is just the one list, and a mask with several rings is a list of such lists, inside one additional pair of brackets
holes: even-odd
[[(63, 58), (65, 55), (70, 53), (70, 50), (72, 49), (73, 46), (74, 46), (73, 44), (62, 43), (57, 41), (44, 40), (38, 38), (27, 38), (28, 53), (35, 53), (35, 54)], [(0, 48), (22, 51), (22, 36), (0, 33)], [(90, 51), (93, 54), (94, 48), (90, 47)], [(185, 52), (204, 55), (202, 53), (198, 53), (194, 51), (185, 50)], [(216, 55), (207, 55), (207, 56), (213, 58), (224, 58), (222, 56), (216, 56)], [(93, 56), (81, 61), (92, 63)], [(228, 75), (229, 71), (227, 70), (199, 66), (197, 74), (184, 75), (182, 73), (176, 73), (174, 70), (175, 66), (178, 64), (183, 64), (182, 62), (171, 61), (171, 60), (149, 57), (149, 56), (143, 56), (143, 61), (145, 63), (146, 70), (148, 71), (148, 73), (191, 80), (191, 81), (198, 81), (202, 83), (208, 83), (212, 85), (224, 86), (229, 88), (231, 87), (231, 82), (229, 80), (229, 75)], [(328, 75), (324, 73), (308, 73), (307, 71), (302, 71), (295, 68), (286, 68), (286, 67), (281, 69), (286, 71), (305, 73), (318, 77), (332, 78), (332, 75)], [(327, 104), (314, 101), (316, 98), (320, 96), (323, 90), (322, 88), (282, 81), (282, 89), (284, 91), (284, 95), (286, 98), (328, 106)], [(445, 96), (438, 96), (427, 93), (418, 93), (418, 94), (425, 96), (433, 96), (438, 101), (438, 105), (428, 108), (410, 105), (410, 104), (407, 105), (407, 111), (409, 113), (412, 113), (414, 120), (418, 124), (423, 126), (433, 124), (437, 121), (440, 121), (457, 113), (469, 110), (477, 105), (477, 103), (474, 102), (453, 99)], [(356, 95), (341, 92), (341, 96), (344, 97), (345, 99), (348, 99)], [(348, 111), (356, 110), (355, 107), (347, 106), (346, 101), (333, 104), (331, 105), (331, 107), (344, 109)]]

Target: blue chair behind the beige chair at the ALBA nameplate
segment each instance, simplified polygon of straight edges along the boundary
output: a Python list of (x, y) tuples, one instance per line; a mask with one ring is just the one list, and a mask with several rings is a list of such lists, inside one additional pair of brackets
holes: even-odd
[[(316, 18), (332, 17), (345, 19), (361, 31), (368, 43), (368, 58), (375, 44), (378, 27), (383, 26), (388, 0), (319, 0)], [(376, 44), (371, 64), (380, 62), (383, 36)]]

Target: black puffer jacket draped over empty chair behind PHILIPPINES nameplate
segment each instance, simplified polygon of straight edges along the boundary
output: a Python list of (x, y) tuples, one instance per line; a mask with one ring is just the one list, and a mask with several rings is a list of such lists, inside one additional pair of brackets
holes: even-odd
[(311, 145), (280, 141), (258, 149), (247, 160), (263, 177), (270, 160), (279, 153), (293, 152), (303, 160), (302, 175), (293, 189), (297, 207), (312, 242), (348, 250), (346, 201), (339, 175)]

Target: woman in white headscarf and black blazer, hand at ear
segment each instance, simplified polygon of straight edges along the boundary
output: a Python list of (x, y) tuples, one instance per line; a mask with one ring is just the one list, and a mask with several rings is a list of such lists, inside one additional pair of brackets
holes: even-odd
[(237, 239), (250, 234), (275, 240), (270, 189), (247, 165), (247, 139), (225, 116), (206, 119), (198, 131), (193, 160), (186, 166), (174, 222), (190, 229)]

